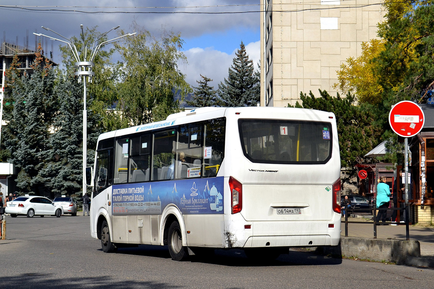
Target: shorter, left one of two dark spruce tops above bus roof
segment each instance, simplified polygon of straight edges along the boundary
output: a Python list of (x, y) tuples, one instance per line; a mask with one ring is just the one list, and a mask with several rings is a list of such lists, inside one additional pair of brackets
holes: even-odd
[(190, 100), (187, 100), (187, 105), (192, 107), (205, 107), (205, 106), (222, 106), (223, 102), (218, 98), (214, 86), (209, 86), (208, 82), (212, 79), (201, 75), (201, 80), (196, 80), (199, 86), (194, 87), (194, 95)]

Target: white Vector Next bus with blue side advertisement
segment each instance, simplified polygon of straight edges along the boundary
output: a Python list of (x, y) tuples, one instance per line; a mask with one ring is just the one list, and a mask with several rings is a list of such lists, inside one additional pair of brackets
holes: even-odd
[(196, 108), (100, 135), (93, 171), (91, 233), (104, 252), (150, 244), (174, 260), (216, 248), (275, 258), (339, 243), (330, 112)]

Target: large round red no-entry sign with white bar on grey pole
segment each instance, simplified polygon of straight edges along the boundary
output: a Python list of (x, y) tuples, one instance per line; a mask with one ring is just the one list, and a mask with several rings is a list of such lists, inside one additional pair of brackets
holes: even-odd
[(389, 124), (397, 135), (411, 138), (424, 127), (425, 116), (422, 108), (414, 102), (404, 100), (393, 106), (389, 112)]

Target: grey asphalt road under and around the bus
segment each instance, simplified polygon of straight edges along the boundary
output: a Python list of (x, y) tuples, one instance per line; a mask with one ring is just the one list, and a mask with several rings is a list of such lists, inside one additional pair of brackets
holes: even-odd
[(434, 270), (290, 251), (268, 264), (240, 250), (175, 262), (166, 246), (103, 253), (89, 217), (6, 217), (0, 289), (434, 288)]

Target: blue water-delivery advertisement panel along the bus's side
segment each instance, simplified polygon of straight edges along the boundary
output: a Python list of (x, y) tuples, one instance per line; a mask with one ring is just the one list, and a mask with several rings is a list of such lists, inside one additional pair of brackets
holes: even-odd
[(113, 185), (113, 215), (161, 214), (175, 204), (183, 214), (222, 214), (224, 177)]

